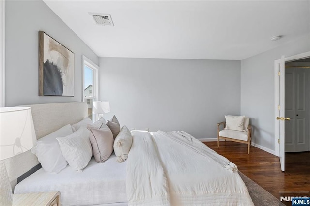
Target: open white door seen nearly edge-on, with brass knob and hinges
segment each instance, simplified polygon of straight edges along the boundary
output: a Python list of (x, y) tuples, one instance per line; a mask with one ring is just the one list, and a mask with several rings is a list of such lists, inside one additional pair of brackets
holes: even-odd
[(275, 61), (275, 135), (278, 135), (281, 170), (285, 170), (285, 70), (284, 56)]

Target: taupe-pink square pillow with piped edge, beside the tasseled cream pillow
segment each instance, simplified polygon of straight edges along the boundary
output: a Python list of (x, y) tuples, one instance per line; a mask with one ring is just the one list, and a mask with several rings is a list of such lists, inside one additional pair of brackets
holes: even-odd
[(113, 152), (113, 134), (105, 124), (102, 124), (100, 129), (89, 128), (89, 130), (91, 131), (89, 139), (93, 147), (93, 156), (96, 162), (105, 162)]

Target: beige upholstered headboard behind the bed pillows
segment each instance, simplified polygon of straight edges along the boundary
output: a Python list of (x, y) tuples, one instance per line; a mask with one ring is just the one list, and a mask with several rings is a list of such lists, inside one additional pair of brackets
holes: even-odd
[[(85, 102), (47, 103), (23, 106), (31, 107), (37, 139), (58, 130), (64, 125), (76, 123), (87, 117), (87, 104)], [(17, 178), (39, 164), (39, 162), (31, 151), (27, 151), (5, 160), (5, 164), (11, 184), (15, 187)]]

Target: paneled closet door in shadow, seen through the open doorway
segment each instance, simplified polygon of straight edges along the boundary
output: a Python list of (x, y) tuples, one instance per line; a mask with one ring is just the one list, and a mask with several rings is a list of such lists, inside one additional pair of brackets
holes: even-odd
[(285, 152), (308, 151), (308, 70), (285, 69)]

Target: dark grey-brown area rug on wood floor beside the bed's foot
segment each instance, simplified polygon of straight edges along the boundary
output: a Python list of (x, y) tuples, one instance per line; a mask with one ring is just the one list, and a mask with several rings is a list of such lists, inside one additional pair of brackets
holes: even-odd
[(285, 206), (276, 197), (245, 176), (242, 172), (239, 171), (238, 173), (246, 184), (248, 193), (255, 206)]

